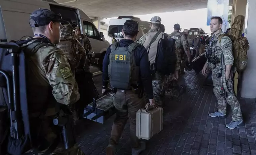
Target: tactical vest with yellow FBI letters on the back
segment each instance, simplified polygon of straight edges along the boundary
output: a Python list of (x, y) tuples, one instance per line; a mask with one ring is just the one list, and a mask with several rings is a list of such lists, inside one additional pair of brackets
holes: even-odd
[(118, 47), (119, 42), (111, 46), (109, 55), (109, 77), (112, 87), (129, 90), (139, 81), (140, 68), (136, 66), (133, 55), (139, 43), (132, 43), (128, 47)]

